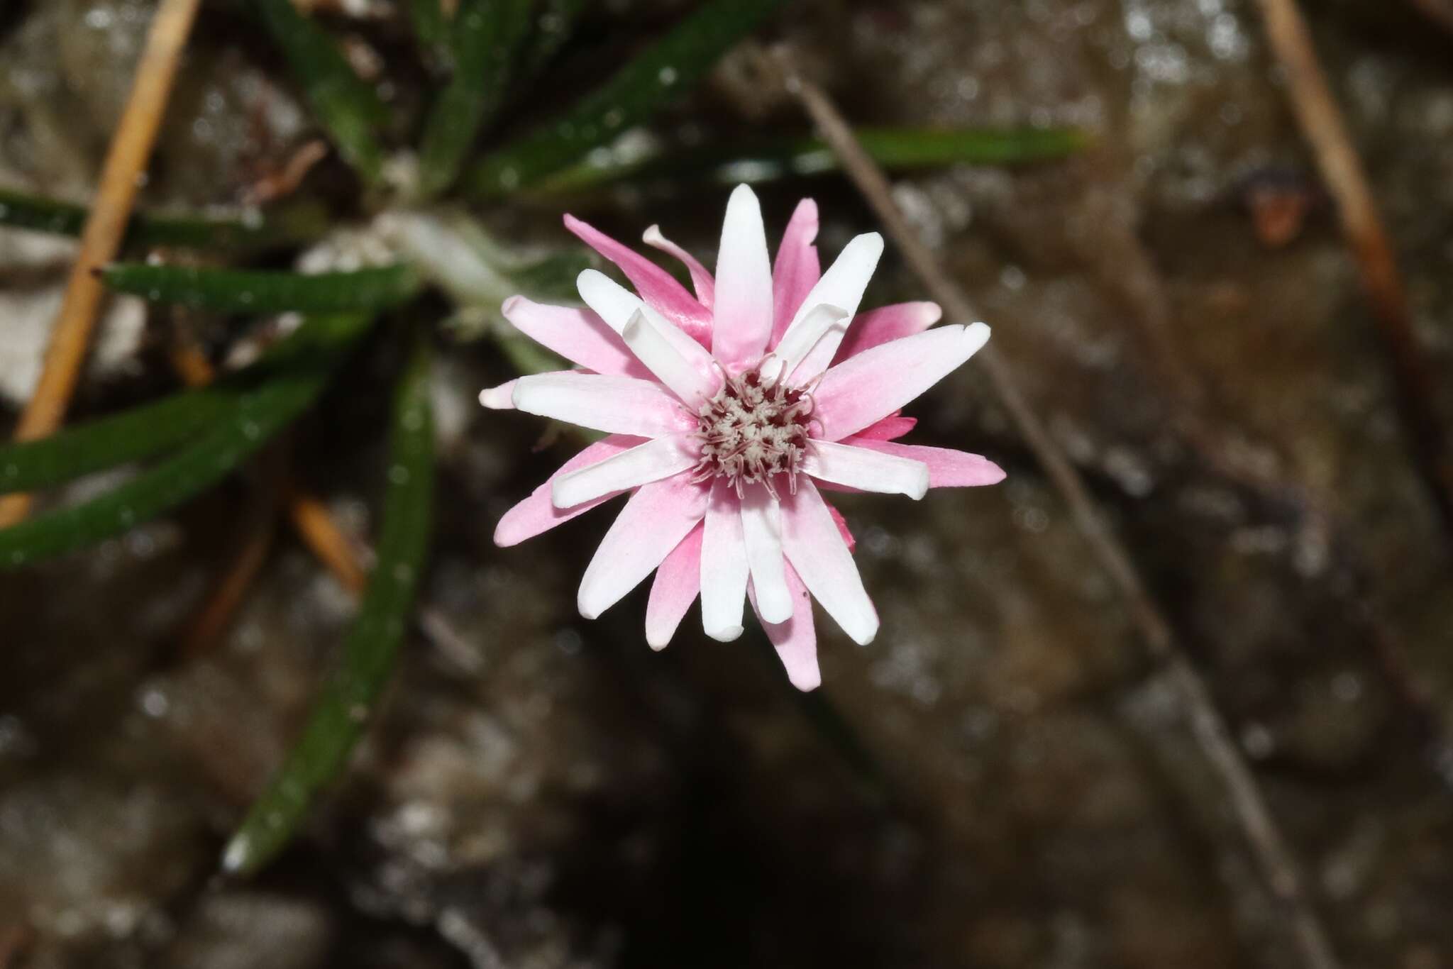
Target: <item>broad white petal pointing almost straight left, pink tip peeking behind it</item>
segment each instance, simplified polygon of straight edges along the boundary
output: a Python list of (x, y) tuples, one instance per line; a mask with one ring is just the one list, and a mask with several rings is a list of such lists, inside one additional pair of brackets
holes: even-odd
[(668, 437), (696, 427), (664, 386), (634, 376), (535, 373), (514, 384), (514, 407), (568, 424), (636, 437)]

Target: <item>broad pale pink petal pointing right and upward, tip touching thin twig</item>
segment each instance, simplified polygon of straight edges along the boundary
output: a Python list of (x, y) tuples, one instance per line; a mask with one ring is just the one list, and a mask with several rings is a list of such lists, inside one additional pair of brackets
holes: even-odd
[(982, 323), (939, 327), (843, 360), (822, 375), (812, 395), (822, 437), (841, 440), (892, 414), (978, 353), (988, 338)]

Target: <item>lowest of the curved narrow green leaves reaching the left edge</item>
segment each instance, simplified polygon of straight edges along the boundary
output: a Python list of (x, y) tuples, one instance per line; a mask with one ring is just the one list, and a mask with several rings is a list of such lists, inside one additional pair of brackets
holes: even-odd
[[(121, 535), (224, 478), (318, 395), (368, 317), (315, 317), (294, 334), (276, 378), (243, 394), (211, 430), (177, 455), (106, 494), (0, 529), (0, 569), (73, 552)], [(314, 363), (305, 366), (305, 363)]]

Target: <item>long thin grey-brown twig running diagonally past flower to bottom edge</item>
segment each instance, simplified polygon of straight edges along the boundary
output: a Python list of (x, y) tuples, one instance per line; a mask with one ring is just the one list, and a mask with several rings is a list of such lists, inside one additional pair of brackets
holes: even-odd
[[(975, 320), (976, 314), (963, 289), (949, 277), (918, 232), (904, 218), (892, 198), (882, 169), (863, 151), (851, 129), (828, 96), (798, 71), (789, 51), (779, 51), (788, 90), (802, 103), (821, 135), (838, 155), (849, 177), (882, 219), (912, 272), (930, 293), (943, 304), (947, 317)], [(1043, 421), (1024, 400), (1011, 365), (992, 347), (979, 352), (994, 391), (1008, 411), (1065, 504), (1100, 565), (1110, 574), (1141, 631), (1151, 657), (1168, 673), (1189, 712), (1191, 734), (1226, 787), (1237, 821), (1247, 838), (1263, 879), (1283, 904), (1298, 947), (1312, 969), (1338, 966), (1325, 928), (1306, 893), (1296, 861), (1267, 809), (1251, 770), (1216, 712), (1210, 690), (1177, 644), (1170, 623), (1145, 590), (1129, 554), (1110, 530), (1090, 497), (1080, 472), (1049, 436)]]

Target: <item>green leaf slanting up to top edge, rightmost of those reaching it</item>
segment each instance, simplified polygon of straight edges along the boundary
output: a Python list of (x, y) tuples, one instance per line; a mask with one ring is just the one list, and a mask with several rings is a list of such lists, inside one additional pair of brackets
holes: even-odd
[(555, 122), (487, 157), (469, 176), (475, 196), (513, 192), (641, 123), (693, 86), (782, 0), (709, 0)]

